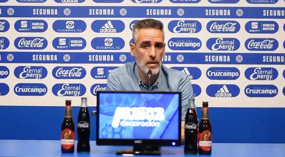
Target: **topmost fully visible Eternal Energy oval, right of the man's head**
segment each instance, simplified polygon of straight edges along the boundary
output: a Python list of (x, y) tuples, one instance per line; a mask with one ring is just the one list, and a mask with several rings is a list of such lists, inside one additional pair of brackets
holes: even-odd
[(168, 24), (168, 30), (172, 33), (198, 33), (201, 29), (201, 23), (196, 20), (174, 20)]

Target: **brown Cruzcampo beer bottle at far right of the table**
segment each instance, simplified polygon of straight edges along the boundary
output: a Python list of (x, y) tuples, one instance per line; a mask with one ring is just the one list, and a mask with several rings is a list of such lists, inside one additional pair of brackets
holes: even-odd
[(212, 127), (209, 121), (208, 102), (203, 102), (202, 118), (199, 125), (199, 154), (209, 155), (212, 152)]

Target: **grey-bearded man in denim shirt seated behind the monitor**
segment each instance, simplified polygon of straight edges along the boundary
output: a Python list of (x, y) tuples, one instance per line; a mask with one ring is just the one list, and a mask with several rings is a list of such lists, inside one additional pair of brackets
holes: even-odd
[[(165, 43), (163, 25), (160, 21), (140, 20), (134, 24), (132, 35), (130, 51), (135, 57), (135, 62), (114, 69), (109, 74), (107, 90), (149, 90), (150, 81), (150, 90), (153, 91), (181, 91), (181, 139), (184, 143), (188, 99), (194, 98), (190, 79), (183, 72), (162, 65)], [(152, 71), (150, 80), (147, 74), (149, 69)]]

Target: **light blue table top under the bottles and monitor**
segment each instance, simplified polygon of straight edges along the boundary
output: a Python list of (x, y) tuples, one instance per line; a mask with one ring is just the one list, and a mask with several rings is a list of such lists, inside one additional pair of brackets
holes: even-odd
[[(77, 141), (75, 141), (75, 146)], [(60, 140), (0, 140), (0, 156), (44, 157), (44, 156), (96, 156), (116, 155), (117, 149), (130, 149), (131, 146), (97, 146), (90, 141), (89, 154), (61, 153)], [(162, 147), (161, 156), (205, 156), (205, 157), (285, 157), (285, 143), (213, 143), (211, 155), (184, 155), (184, 145)], [(134, 156), (132, 154), (122, 156)], [(138, 157), (146, 155), (137, 155)], [(149, 157), (149, 155), (148, 155)]]

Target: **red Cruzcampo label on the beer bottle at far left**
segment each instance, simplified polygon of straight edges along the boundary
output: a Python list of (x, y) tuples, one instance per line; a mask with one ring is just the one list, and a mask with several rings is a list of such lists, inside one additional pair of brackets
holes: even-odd
[(74, 131), (64, 129), (61, 132), (61, 145), (64, 149), (70, 149), (72, 146), (74, 146)]

